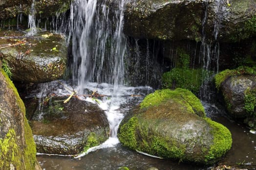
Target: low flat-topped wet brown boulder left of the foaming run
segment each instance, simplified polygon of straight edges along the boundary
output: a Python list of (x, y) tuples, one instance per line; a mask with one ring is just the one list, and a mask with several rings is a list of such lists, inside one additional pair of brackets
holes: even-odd
[(25, 100), (37, 152), (74, 155), (107, 140), (107, 117), (96, 104), (65, 99)]

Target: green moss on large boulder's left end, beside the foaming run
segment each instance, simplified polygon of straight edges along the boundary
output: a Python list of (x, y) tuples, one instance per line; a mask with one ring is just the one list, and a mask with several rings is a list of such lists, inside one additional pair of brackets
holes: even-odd
[(132, 117), (131, 119), (128, 120), (127, 123), (125, 123), (120, 128), (120, 133), (118, 135), (120, 142), (122, 142), (124, 146), (127, 146), (133, 150), (138, 150), (137, 140), (136, 140), (137, 127), (138, 127), (138, 119), (135, 117)]

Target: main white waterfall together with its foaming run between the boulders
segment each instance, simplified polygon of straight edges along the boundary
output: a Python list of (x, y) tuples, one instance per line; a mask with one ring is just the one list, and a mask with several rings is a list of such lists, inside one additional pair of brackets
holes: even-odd
[(72, 42), (71, 69), (76, 90), (79, 94), (83, 94), (86, 88), (98, 91), (100, 90), (98, 85), (101, 85), (107, 86), (103, 88), (105, 90), (102, 93), (112, 96), (110, 100), (103, 100), (99, 104), (107, 115), (110, 137), (105, 143), (89, 149), (86, 153), (119, 143), (117, 129), (124, 117), (119, 108), (125, 101), (118, 96), (127, 91), (124, 90), (125, 2), (126, 0), (114, 2), (116, 9), (109, 9), (109, 3), (113, 3), (110, 0), (76, 0), (70, 6), (68, 40)]

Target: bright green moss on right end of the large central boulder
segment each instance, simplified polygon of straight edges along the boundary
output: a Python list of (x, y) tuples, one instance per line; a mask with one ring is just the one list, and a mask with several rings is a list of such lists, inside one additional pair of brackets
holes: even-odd
[(230, 131), (220, 123), (209, 118), (205, 118), (213, 128), (213, 144), (210, 146), (208, 154), (205, 156), (205, 162), (212, 162), (221, 158), (232, 146), (232, 136)]

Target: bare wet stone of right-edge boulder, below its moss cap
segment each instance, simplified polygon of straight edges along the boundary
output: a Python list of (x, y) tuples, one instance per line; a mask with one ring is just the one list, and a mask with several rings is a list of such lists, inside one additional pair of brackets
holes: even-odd
[(230, 115), (256, 129), (256, 77), (231, 76), (220, 89)]

